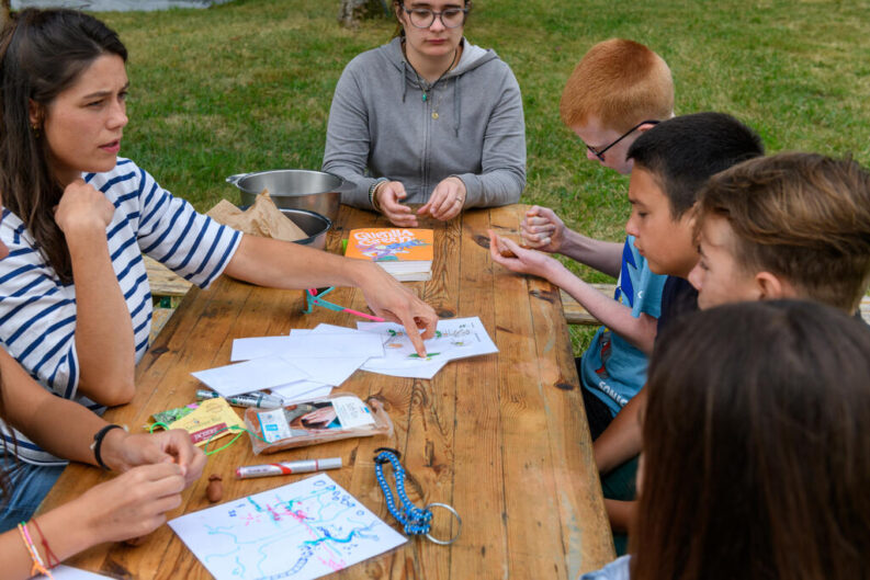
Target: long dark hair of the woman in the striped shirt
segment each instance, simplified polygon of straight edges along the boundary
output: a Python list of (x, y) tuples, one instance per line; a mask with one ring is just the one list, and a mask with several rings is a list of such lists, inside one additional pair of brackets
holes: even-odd
[(127, 49), (117, 34), (76, 10), (26, 9), (0, 32), (0, 192), (21, 218), (45, 260), (72, 282), (69, 249), (53, 208), (64, 193), (48, 164), (42, 120), (31, 126), (30, 107), (42, 111), (97, 58)]

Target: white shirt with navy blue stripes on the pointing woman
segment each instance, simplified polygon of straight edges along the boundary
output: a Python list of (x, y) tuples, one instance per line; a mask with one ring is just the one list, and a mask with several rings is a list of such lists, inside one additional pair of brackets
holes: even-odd
[[(197, 214), (128, 159), (118, 158), (106, 173), (82, 177), (115, 206), (105, 232), (112, 268), (133, 320), (138, 363), (148, 349), (151, 327), (151, 292), (142, 254), (204, 288), (224, 271), (241, 234)], [(22, 220), (5, 208), (0, 239), (9, 247), (9, 257), (0, 260), (0, 344), (54, 394), (101, 412), (101, 406), (76, 395), (75, 285), (60, 283)], [(9, 443), (10, 433), (0, 427)], [(15, 436), (22, 459), (59, 462), (20, 433)]]

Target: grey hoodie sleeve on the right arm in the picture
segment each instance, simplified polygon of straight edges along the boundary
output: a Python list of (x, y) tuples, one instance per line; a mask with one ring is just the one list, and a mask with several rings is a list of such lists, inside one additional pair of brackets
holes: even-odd
[(467, 191), (464, 207), (490, 207), (520, 201), (526, 187), (526, 122), (520, 86), (513, 72), (506, 73), (498, 104), (486, 126), (483, 173), (460, 173)]

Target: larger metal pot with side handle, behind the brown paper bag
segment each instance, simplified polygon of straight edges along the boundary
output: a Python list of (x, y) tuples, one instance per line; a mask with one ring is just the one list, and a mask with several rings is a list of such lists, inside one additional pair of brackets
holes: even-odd
[(241, 205), (251, 205), (261, 191), (269, 190), (269, 195), (279, 208), (307, 209), (332, 221), (338, 218), (344, 184), (344, 180), (338, 175), (306, 169), (237, 173), (226, 180), (239, 189)]

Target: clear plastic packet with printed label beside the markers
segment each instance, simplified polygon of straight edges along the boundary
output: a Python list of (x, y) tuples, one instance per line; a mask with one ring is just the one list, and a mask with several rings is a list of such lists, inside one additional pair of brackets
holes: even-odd
[(334, 395), (278, 409), (245, 411), (253, 454), (275, 453), (348, 437), (393, 434), (393, 422), (375, 398)]

